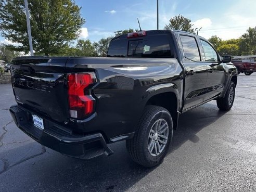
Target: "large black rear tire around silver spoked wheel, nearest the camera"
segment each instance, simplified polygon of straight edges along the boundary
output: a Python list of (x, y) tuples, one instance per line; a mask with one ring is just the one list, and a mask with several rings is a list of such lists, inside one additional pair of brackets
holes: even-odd
[[(162, 151), (161, 152), (159, 151), (158, 155), (152, 156), (151, 153), (153, 151), (151, 151), (150, 153), (150, 149), (149, 149), (150, 145), (152, 144), (152, 147), (153, 145), (155, 145), (156, 148), (153, 147), (154, 148), (153, 150), (155, 150), (156, 153), (157, 153), (157, 148), (160, 149), (160, 145), (162, 145), (162, 143), (160, 143), (159, 141), (159, 138), (161, 136), (158, 137), (160, 133), (159, 132), (152, 133), (152, 130), (151, 130), (153, 129), (153, 127), (157, 127), (156, 125), (157, 122), (160, 122), (159, 127), (160, 126), (162, 127), (164, 124), (168, 125), (168, 127), (164, 127), (164, 129), (166, 130), (165, 132), (168, 131), (168, 134), (165, 133), (168, 136), (166, 135), (167, 136), (167, 140), (165, 140), (166, 145), (164, 145), (164, 147), (162, 148)], [(164, 124), (161, 125), (162, 122), (164, 122)], [(156, 131), (157, 131), (157, 128), (156, 128)], [(164, 157), (167, 155), (167, 152), (169, 150), (169, 146), (172, 140), (172, 135), (173, 135), (173, 122), (172, 122), (171, 114), (168, 112), (168, 110), (163, 107), (149, 105), (149, 106), (146, 106), (144, 109), (143, 115), (140, 118), (134, 137), (132, 139), (126, 140), (126, 149), (129, 152), (129, 155), (131, 156), (131, 158), (138, 164), (141, 164), (144, 167), (155, 167), (156, 165), (159, 165), (163, 161)], [(161, 137), (160, 139), (163, 139), (163, 138)]]

